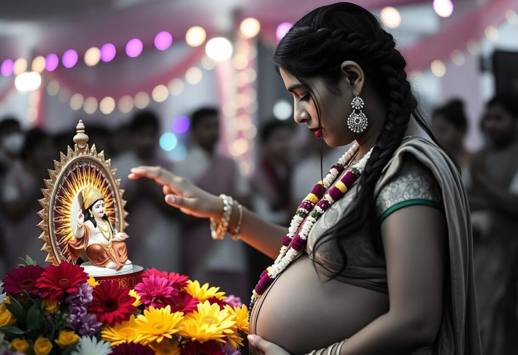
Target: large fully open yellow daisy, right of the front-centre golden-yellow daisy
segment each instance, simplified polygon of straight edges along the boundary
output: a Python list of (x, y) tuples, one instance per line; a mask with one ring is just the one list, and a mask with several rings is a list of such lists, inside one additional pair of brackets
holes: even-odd
[(217, 340), (225, 343), (222, 338), (234, 333), (232, 329), (236, 325), (235, 316), (228, 309), (220, 310), (217, 304), (209, 301), (198, 304), (198, 310), (185, 316), (180, 335), (204, 343), (207, 340)]

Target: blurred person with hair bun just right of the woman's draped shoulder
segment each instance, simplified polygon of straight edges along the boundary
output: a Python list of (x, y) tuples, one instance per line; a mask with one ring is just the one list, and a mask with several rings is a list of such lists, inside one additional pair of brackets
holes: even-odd
[(457, 98), (450, 100), (434, 111), (431, 123), (439, 143), (461, 166), (464, 187), (468, 188), (470, 154), (464, 148), (464, 138), (468, 131), (464, 103)]

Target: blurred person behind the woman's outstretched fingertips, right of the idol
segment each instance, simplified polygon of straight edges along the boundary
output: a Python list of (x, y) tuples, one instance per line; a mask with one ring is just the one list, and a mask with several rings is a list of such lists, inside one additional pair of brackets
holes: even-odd
[(176, 212), (164, 206), (162, 189), (156, 184), (127, 179), (133, 164), (162, 165), (170, 169), (169, 162), (160, 157), (157, 149), (160, 120), (152, 111), (139, 111), (129, 127), (128, 147), (131, 150), (121, 152), (111, 164), (112, 168), (117, 168), (117, 177), (121, 178), (121, 188), (125, 190), (122, 198), (127, 201), (129, 215), (126, 221), (130, 225), (124, 232), (131, 237), (127, 243), (128, 254), (134, 264), (176, 271), (180, 266)]

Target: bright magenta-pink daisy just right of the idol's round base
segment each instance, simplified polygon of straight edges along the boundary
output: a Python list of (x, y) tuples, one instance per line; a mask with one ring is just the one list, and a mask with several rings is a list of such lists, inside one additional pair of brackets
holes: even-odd
[(169, 304), (172, 296), (178, 295), (178, 290), (172, 287), (172, 281), (163, 276), (145, 277), (135, 286), (142, 304), (149, 308), (162, 308)]

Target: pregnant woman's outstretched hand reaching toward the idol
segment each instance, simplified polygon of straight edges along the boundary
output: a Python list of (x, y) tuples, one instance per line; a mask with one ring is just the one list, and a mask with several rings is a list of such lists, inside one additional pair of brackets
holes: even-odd
[(223, 201), (183, 178), (168, 172), (161, 166), (138, 166), (131, 169), (128, 178), (141, 177), (154, 180), (162, 186), (165, 202), (179, 208), (184, 214), (200, 218), (221, 218)]

